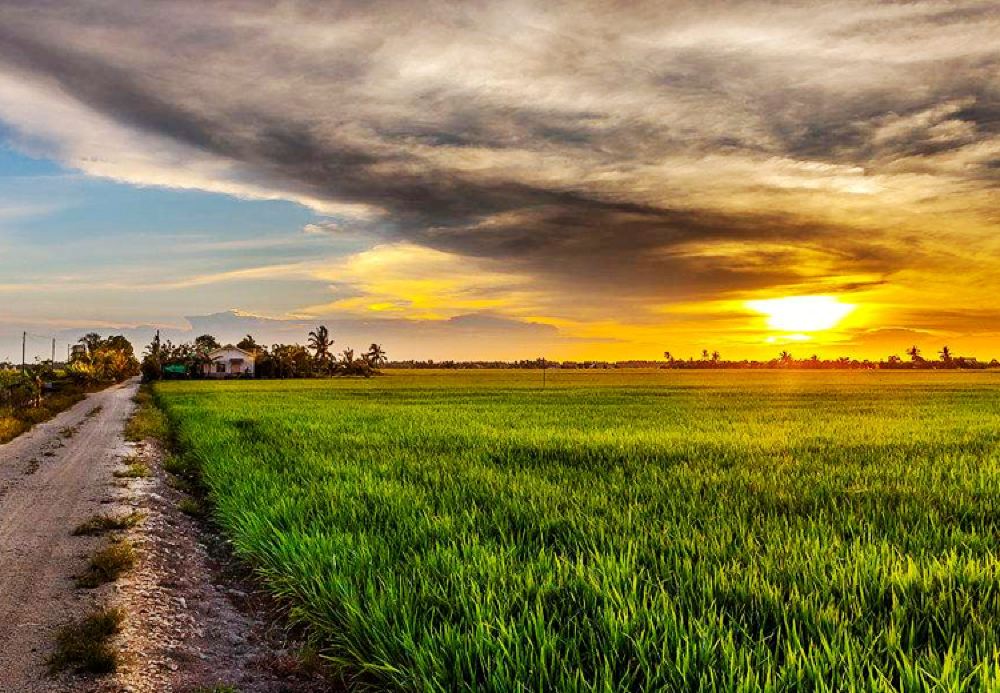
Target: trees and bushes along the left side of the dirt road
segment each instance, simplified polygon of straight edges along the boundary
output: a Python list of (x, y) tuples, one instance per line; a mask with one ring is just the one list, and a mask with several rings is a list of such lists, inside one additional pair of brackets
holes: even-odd
[[(94, 333), (80, 339), (67, 363), (0, 363), (0, 443), (70, 408), (86, 393), (138, 373), (139, 362), (127, 339)], [(67, 429), (64, 435), (73, 432)]]

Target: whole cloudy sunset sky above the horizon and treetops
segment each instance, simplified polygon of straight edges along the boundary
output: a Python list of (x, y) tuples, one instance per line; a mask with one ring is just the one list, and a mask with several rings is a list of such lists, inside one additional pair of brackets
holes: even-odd
[(1000, 5), (0, 0), (0, 360), (1000, 357)]

